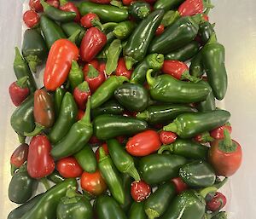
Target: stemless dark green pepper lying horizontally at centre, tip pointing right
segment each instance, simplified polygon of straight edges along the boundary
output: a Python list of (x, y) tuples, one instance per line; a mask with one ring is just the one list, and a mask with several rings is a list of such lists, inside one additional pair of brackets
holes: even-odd
[(148, 124), (137, 118), (101, 115), (94, 120), (94, 134), (98, 139), (107, 140), (120, 135), (134, 135), (148, 129)]

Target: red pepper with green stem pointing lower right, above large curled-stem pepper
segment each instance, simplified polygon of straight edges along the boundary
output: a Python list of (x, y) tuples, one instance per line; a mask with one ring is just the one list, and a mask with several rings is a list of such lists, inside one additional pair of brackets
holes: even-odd
[(162, 72), (172, 75), (172, 77), (177, 78), (178, 80), (189, 80), (195, 83), (201, 80), (190, 75), (189, 67), (182, 61), (164, 61), (164, 65), (162, 66)]

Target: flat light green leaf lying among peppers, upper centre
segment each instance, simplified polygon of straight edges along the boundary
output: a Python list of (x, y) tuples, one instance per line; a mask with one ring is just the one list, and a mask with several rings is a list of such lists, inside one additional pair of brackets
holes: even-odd
[(113, 40), (108, 48), (106, 73), (111, 75), (118, 66), (119, 55), (122, 52), (122, 43), (119, 39)]

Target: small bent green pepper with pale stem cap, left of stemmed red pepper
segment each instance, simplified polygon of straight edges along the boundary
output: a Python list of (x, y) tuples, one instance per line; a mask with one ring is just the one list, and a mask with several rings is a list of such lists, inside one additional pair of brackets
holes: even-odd
[(131, 83), (144, 84), (146, 81), (146, 73), (148, 69), (159, 71), (165, 61), (164, 55), (150, 54), (141, 61), (131, 74)]

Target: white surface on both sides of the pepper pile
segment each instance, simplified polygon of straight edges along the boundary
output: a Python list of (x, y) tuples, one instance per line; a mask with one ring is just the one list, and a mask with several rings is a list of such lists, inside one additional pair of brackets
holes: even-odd
[[(0, 217), (3, 219), (16, 206), (9, 202), (7, 195), (9, 156), (18, 146), (15, 132), (9, 124), (15, 107), (9, 100), (8, 87), (15, 81), (12, 65), (14, 48), (20, 48), (21, 44), (23, 2), (0, 0)], [(255, 219), (256, 1), (212, 0), (212, 3), (216, 7), (210, 14), (210, 20), (216, 22), (218, 41), (226, 48), (229, 74), (228, 93), (218, 106), (231, 112), (232, 136), (241, 143), (244, 155), (241, 169), (224, 189), (230, 196), (227, 209), (231, 219)]]

